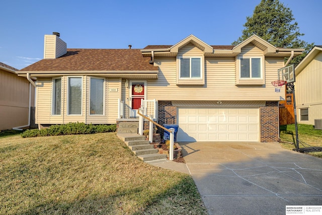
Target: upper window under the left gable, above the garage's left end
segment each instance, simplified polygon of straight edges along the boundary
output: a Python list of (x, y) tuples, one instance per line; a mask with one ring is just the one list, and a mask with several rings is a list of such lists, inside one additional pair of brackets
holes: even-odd
[(202, 77), (201, 71), (200, 57), (180, 58), (180, 78), (200, 79)]

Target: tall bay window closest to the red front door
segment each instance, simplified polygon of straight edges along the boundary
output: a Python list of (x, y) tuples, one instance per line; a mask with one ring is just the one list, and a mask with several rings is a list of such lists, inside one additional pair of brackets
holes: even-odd
[(90, 82), (90, 115), (103, 115), (104, 79), (92, 78)]

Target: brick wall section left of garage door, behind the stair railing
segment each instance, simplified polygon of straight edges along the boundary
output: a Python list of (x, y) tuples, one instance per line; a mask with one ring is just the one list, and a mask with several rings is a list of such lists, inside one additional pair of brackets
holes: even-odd
[[(158, 104), (158, 124), (177, 124), (177, 107), (171, 101), (157, 101)], [(164, 130), (158, 128), (157, 133), (163, 138)]]

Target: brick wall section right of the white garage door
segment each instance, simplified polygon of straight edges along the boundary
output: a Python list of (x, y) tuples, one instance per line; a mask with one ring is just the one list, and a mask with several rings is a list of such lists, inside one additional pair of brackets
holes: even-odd
[(276, 142), (279, 138), (278, 101), (266, 101), (260, 107), (261, 142)]

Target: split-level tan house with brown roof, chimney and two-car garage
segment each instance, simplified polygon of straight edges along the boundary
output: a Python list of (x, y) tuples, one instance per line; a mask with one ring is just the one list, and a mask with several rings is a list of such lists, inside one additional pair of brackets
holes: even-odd
[(37, 78), (40, 127), (136, 121), (142, 105), (158, 124), (179, 125), (178, 142), (272, 142), (285, 95), (271, 81), (285, 57), (302, 51), (256, 35), (237, 46), (190, 35), (143, 49), (67, 49), (54, 33), (45, 35), (44, 59), (18, 73)]

